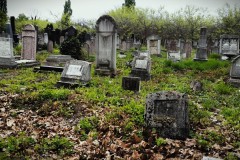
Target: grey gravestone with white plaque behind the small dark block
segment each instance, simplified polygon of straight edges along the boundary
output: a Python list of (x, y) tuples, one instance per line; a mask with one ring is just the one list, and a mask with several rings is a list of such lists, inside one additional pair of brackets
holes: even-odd
[(134, 57), (132, 61), (131, 77), (140, 77), (142, 81), (151, 79), (151, 59), (145, 56)]

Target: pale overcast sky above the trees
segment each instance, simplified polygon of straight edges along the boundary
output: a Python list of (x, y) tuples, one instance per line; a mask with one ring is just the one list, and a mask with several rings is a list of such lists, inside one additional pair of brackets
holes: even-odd
[[(141, 8), (158, 9), (163, 6), (172, 13), (186, 5), (207, 8), (209, 13), (217, 15), (217, 9), (226, 3), (240, 7), (240, 0), (135, 0), (136, 6)], [(20, 13), (27, 16), (41, 17), (54, 21), (54, 16), (61, 17), (65, 0), (7, 0), (8, 15), (17, 17)], [(96, 20), (106, 12), (122, 6), (124, 0), (71, 0), (73, 10), (72, 19)]]

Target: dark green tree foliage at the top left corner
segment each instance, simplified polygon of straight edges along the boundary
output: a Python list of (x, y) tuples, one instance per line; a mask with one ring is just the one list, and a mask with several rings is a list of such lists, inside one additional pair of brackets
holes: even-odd
[(5, 29), (7, 22), (7, 0), (0, 1), (0, 31)]

